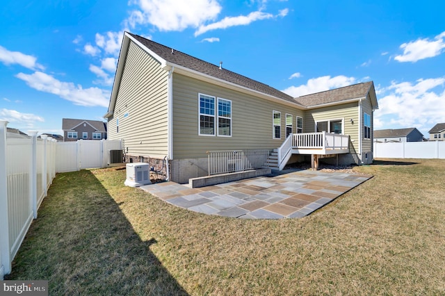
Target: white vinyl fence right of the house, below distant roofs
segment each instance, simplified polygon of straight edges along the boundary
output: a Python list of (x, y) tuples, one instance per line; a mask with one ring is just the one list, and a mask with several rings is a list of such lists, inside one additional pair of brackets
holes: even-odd
[(374, 158), (442, 158), (445, 142), (374, 143)]

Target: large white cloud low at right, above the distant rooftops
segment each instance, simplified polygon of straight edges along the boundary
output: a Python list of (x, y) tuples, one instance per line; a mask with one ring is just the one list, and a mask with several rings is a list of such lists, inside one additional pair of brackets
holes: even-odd
[(379, 109), (375, 110), (378, 127), (417, 127), (425, 135), (434, 124), (444, 122), (445, 77), (414, 83), (393, 81), (380, 93), (386, 95), (378, 100)]

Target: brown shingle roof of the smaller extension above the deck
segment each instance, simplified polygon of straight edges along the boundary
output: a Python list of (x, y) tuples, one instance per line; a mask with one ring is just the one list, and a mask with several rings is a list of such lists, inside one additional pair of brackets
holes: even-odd
[(354, 85), (336, 88), (334, 90), (326, 90), (325, 92), (317, 92), (315, 94), (307, 94), (305, 96), (296, 97), (296, 101), (303, 106), (316, 106), (321, 104), (335, 103), (337, 101), (345, 101), (348, 99), (357, 99), (366, 97), (366, 94), (373, 87), (373, 82), (364, 82)]

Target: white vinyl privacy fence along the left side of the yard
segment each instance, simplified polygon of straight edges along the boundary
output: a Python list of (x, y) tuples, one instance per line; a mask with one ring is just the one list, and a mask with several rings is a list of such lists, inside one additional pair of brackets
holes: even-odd
[[(7, 133), (0, 120), (0, 280), (11, 263), (56, 172), (106, 167), (108, 150), (122, 149), (120, 141), (56, 142), (37, 132)], [(94, 143), (93, 143), (94, 142)]]

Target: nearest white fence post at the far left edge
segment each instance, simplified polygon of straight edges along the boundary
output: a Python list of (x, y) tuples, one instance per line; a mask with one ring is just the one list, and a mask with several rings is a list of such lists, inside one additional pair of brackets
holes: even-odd
[(0, 120), (0, 279), (11, 272), (11, 253), (9, 242), (8, 215), (8, 175), (6, 170), (6, 126), (8, 122)]

